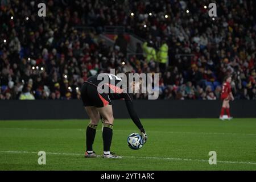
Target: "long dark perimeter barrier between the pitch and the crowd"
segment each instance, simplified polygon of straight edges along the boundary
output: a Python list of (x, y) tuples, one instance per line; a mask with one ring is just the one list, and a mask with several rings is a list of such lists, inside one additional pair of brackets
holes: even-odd
[[(114, 118), (130, 118), (125, 101), (113, 101)], [(230, 102), (235, 118), (256, 118), (256, 101)], [(217, 118), (221, 101), (135, 100), (140, 118)], [(6, 119), (85, 119), (80, 100), (0, 101), (0, 120)]]

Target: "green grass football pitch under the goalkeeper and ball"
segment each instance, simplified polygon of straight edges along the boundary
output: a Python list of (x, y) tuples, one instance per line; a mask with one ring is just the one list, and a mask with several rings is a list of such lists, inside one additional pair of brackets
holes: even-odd
[[(122, 159), (85, 159), (89, 120), (0, 121), (0, 170), (256, 170), (256, 119), (142, 119), (148, 141), (126, 143), (138, 132), (130, 119), (115, 119), (111, 150)], [(102, 154), (101, 123), (94, 151)], [(46, 165), (38, 152), (46, 152)], [(209, 151), (217, 164), (210, 165)]]

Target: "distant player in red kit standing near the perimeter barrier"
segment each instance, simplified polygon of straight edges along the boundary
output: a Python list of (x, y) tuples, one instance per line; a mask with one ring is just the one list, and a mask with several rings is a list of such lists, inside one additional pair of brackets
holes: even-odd
[(223, 115), (226, 111), (226, 114), (228, 115), (228, 119), (232, 119), (230, 117), (230, 111), (229, 111), (229, 101), (234, 100), (232, 91), (231, 91), (231, 85), (230, 82), (232, 81), (231, 76), (225, 77), (224, 84), (222, 85), (222, 91), (221, 91), (221, 100), (222, 100), (222, 108), (220, 113), (220, 119), (224, 120)]

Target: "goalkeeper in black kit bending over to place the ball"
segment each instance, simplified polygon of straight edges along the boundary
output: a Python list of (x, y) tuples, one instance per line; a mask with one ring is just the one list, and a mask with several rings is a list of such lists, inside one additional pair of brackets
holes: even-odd
[[(126, 73), (126, 77), (128, 80), (128, 74)], [(112, 135), (113, 135), (113, 110), (112, 110), (112, 103), (111, 100), (120, 100), (124, 99), (126, 103), (127, 110), (130, 114), (131, 119), (141, 131), (141, 135), (143, 137), (143, 142), (146, 142), (147, 135), (145, 130), (142, 126), (141, 121), (138, 118), (136, 111), (134, 110), (133, 106), (133, 94), (130, 93), (123, 93), (123, 88), (119, 88), (116, 86), (119, 81), (122, 81), (122, 78), (117, 77), (111, 74), (108, 75), (110, 80), (115, 78), (115, 85), (107, 84), (109, 89), (113, 92), (108, 93), (98, 93), (98, 88), (100, 85), (101, 80), (97, 80), (97, 75), (89, 77), (88, 80), (84, 82), (81, 88), (81, 98), (84, 104), (85, 110), (90, 118), (90, 123), (86, 130), (86, 152), (85, 158), (96, 158), (96, 153), (93, 151), (93, 142), (96, 135), (96, 129), (98, 122), (100, 121), (100, 116), (104, 121), (104, 128), (102, 131), (102, 138), (103, 138), (103, 145), (104, 145), (104, 158), (121, 158), (121, 156), (113, 155), (110, 152), (110, 146), (112, 142)], [(141, 83), (140, 82), (128, 82), (127, 86), (133, 90), (135, 93), (136, 90), (139, 90)]]

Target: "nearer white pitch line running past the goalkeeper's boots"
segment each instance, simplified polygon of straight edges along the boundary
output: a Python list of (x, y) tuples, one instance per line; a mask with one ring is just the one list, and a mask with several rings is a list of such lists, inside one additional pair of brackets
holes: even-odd
[[(38, 154), (38, 152), (28, 152), (28, 151), (0, 151), (1, 153), (8, 154)], [(46, 154), (50, 155), (76, 155), (82, 156), (82, 154), (75, 153), (60, 153), (60, 152), (46, 152)], [(100, 155), (98, 155), (100, 156)], [(181, 159), (181, 158), (157, 158), (157, 157), (137, 157), (137, 156), (122, 156), (123, 158), (134, 158), (134, 159), (155, 159), (155, 160), (182, 160), (182, 161), (196, 161), (196, 162), (204, 162), (208, 163), (208, 160), (205, 159)], [(217, 160), (217, 163), (231, 163), (231, 164), (256, 164), (256, 162), (242, 162), (242, 161), (222, 161)]]

